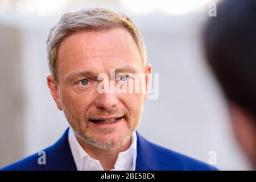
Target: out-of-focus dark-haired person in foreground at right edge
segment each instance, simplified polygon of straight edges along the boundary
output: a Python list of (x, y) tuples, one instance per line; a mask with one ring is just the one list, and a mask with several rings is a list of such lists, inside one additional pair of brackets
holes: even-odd
[(256, 1), (217, 7), (205, 28), (205, 51), (228, 100), (234, 134), (256, 169)]

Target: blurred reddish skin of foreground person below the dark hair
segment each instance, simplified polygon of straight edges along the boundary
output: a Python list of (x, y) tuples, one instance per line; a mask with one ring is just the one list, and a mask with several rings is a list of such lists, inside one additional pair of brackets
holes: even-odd
[(234, 135), (243, 151), (256, 169), (256, 121), (253, 115), (241, 106), (229, 103)]

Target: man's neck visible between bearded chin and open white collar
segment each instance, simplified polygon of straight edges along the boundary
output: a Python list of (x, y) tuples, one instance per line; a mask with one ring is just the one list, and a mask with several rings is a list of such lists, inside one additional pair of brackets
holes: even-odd
[(92, 146), (91, 144), (81, 140), (79, 137), (76, 137), (76, 138), (79, 141), (82, 148), (87, 152), (87, 154), (91, 158), (100, 161), (101, 166), (105, 171), (113, 169), (115, 162), (117, 161), (119, 152), (126, 151), (131, 145), (131, 137), (130, 137), (130, 139), (128, 139), (127, 142), (122, 146), (113, 148), (111, 150), (105, 150), (102, 148)]

